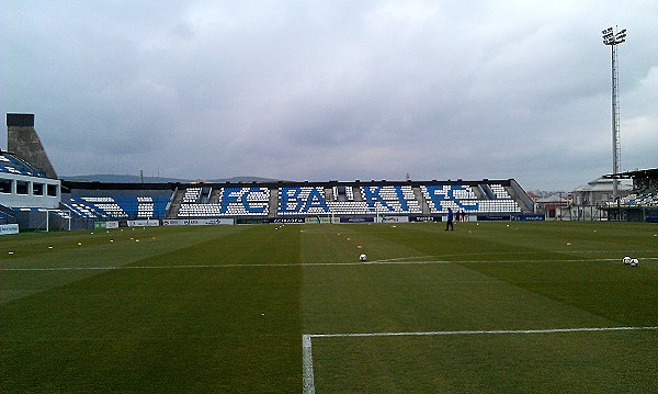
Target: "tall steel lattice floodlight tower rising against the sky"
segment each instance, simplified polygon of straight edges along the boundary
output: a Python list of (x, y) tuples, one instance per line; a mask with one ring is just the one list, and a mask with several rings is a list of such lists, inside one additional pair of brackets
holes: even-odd
[[(608, 27), (603, 33), (603, 44), (612, 48), (612, 173), (620, 172), (620, 104), (619, 104), (619, 79), (616, 67), (616, 46), (626, 41), (626, 30), (614, 33)], [(612, 179), (612, 199), (619, 199), (619, 179)]]

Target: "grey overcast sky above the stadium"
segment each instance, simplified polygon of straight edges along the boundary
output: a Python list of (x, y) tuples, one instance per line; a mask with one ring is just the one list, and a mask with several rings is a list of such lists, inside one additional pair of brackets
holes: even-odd
[[(59, 176), (517, 179), (658, 167), (658, 2), (3, 0), (0, 111)], [(7, 147), (1, 133), (0, 145)]]

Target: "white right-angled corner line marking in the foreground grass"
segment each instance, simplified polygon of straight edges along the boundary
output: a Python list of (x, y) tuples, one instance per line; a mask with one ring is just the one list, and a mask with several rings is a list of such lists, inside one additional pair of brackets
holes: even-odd
[(582, 327), (582, 328), (548, 328), (548, 329), (494, 329), (494, 330), (455, 330), (455, 331), (401, 331), (401, 333), (343, 333), (343, 334), (304, 334), (303, 347), (303, 393), (315, 394), (313, 372), (313, 338), (349, 338), (349, 337), (420, 337), (444, 335), (510, 335), (510, 334), (556, 334), (556, 333), (591, 333), (591, 331), (632, 331), (656, 330), (658, 326), (647, 327)]

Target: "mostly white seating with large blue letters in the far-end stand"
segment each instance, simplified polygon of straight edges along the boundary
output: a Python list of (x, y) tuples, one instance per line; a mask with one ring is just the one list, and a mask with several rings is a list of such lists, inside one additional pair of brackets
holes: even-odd
[[(521, 212), (502, 184), (487, 183), (486, 193), (480, 189), (481, 198), (474, 188), (466, 184), (421, 185), (423, 202), (429, 207), (429, 212), (423, 212), (413, 188), (408, 184), (290, 185), (272, 191), (265, 187), (222, 188), (208, 202), (205, 201), (209, 192), (192, 187), (183, 191), (178, 217), (445, 214), (449, 207), (470, 214)], [(270, 193), (274, 191), (277, 210), (270, 213)]]

